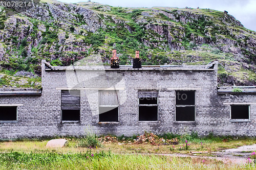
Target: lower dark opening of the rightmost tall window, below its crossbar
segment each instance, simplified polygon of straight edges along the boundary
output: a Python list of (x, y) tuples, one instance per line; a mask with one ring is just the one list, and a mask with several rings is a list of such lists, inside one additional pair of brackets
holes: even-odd
[(195, 121), (195, 107), (176, 107), (176, 121)]

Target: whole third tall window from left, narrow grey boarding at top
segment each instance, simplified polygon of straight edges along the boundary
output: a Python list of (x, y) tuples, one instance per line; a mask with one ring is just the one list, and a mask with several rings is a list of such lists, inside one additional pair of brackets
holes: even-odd
[(139, 90), (139, 121), (158, 120), (158, 91)]

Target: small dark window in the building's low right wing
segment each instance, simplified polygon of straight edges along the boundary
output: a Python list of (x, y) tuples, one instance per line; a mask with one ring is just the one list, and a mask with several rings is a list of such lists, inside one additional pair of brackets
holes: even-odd
[(231, 105), (231, 119), (249, 119), (249, 105)]

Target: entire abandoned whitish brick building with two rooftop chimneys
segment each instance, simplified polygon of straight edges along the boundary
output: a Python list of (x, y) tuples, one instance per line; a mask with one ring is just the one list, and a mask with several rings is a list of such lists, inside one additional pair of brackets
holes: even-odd
[(218, 61), (207, 65), (51, 66), (42, 89), (0, 91), (0, 138), (144, 131), (256, 136), (255, 87), (217, 88)]

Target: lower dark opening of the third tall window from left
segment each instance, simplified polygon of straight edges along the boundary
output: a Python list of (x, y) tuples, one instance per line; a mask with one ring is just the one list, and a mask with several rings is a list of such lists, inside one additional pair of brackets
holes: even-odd
[(157, 106), (139, 106), (139, 121), (157, 121)]

